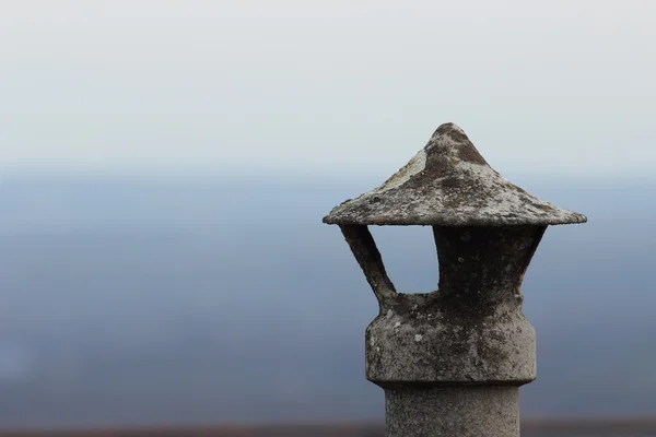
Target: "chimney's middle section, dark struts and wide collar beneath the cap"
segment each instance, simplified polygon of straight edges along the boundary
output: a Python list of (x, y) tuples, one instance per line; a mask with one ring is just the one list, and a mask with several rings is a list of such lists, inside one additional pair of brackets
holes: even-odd
[[(440, 260), (437, 291), (388, 296), (372, 285), (380, 311), (365, 334), (367, 379), (383, 388), (532, 381), (535, 331), (522, 314), (520, 286), (544, 226), (433, 231)], [(370, 244), (373, 251), (375, 244)], [(361, 265), (368, 263), (371, 270), (380, 262), (377, 271), (384, 272), (379, 258), (362, 261), (361, 253), (354, 253)]]

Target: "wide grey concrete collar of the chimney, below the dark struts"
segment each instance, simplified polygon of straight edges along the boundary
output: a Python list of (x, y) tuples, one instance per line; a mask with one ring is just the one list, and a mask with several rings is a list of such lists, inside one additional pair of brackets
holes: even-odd
[(520, 386), (536, 378), (535, 330), (523, 315), (460, 323), (425, 308), (410, 317), (389, 310), (367, 327), (370, 381), (383, 388)]

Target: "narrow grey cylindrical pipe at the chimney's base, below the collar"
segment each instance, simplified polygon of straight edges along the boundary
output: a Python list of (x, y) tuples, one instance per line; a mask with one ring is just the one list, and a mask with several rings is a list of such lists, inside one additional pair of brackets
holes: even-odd
[(517, 387), (385, 391), (387, 437), (517, 437)]

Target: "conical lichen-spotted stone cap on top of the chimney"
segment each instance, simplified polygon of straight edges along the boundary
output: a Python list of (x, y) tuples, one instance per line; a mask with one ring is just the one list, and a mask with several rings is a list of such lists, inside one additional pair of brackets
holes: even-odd
[(340, 225), (504, 226), (584, 223), (576, 212), (529, 194), (496, 173), (454, 123), (378, 188), (336, 206)]

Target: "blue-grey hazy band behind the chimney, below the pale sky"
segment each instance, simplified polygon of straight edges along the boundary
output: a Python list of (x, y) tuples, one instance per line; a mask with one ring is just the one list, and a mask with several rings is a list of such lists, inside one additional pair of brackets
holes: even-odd
[[(519, 179), (589, 216), (525, 277), (524, 414), (653, 413), (656, 184)], [(379, 417), (376, 302), (320, 222), (368, 182), (4, 179), (0, 424)], [(430, 228), (373, 232), (400, 291), (436, 287)]]

